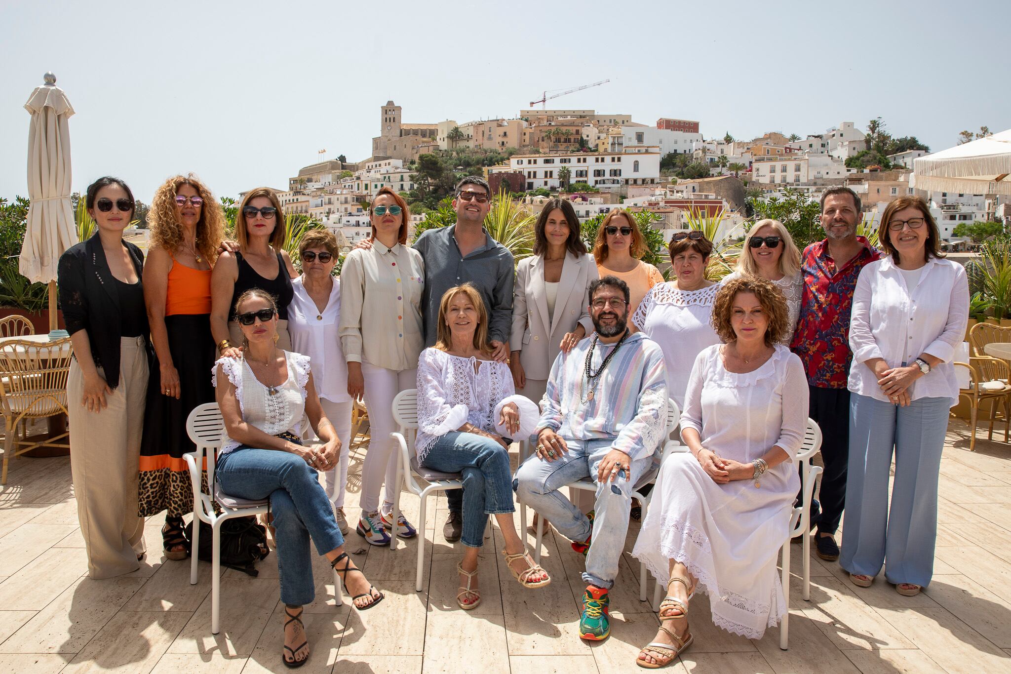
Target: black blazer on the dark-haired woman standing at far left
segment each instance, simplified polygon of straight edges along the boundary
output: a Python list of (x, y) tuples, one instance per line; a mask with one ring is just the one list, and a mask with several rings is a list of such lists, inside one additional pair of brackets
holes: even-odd
[[(144, 271), (144, 254), (133, 244), (123, 242), (133, 260), (140, 278)], [(91, 238), (72, 246), (60, 257), (57, 272), (60, 287), (60, 308), (64, 312), (67, 331), (74, 334), (87, 330), (91, 357), (105, 371), (109, 388), (119, 385), (120, 332), (119, 293), (109, 270), (105, 251), (96, 232)], [(140, 281), (139, 281), (140, 283)], [(151, 338), (146, 332), (149, 360)]]

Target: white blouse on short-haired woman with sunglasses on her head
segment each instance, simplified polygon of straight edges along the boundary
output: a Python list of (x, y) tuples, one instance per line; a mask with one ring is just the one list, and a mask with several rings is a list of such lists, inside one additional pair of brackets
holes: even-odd
[(667, 367), (667, 395), (681, 408), (696, 356), (706, 347), (720, 344), (712, 323), (713, 301), (719, 290), (716, 283), (699, 290), (678, 290), (672, 282), (658, 283), (632, 315), (632, 324), (660, 346)]

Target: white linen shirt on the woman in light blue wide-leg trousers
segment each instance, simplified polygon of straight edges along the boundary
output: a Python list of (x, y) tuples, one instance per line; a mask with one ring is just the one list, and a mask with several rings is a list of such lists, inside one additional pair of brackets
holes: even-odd
[(958, 383), (951, 361), (966, 339), (968, 318), (969, 281), (961, 265), (931, 258), (910, 291), (891, 257), (869, 263), (860, 271), (853, 293), (849, 390), (891, 402), (865, 362), (882, 358), (895, 368), (913, 365), (921, 354), (929, 354), (942, 362), (913, 382), (910, 400), (950, 398), (955, 404)]

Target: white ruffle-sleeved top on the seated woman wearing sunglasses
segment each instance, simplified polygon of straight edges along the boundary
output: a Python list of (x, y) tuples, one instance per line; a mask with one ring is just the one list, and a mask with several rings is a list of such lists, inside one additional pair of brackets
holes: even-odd
[[(268, 436), (282, 432), (299, 435), (302, 416), (305, 413), (305, 384), (309, 380), (309, 357), (284, 352), (288, 364), (288, 378), (277, 387), (276, 393), (260, 383), (245, 359), (220, 358), (211, 370), (211, 383), (217, 386), (217, 367), (236, 387), (236, 397), (243, 420), (251, 423)], [(221, 430), (221, 449), (218, 456), (240, 447), (242, 443), (232, 440), (227, 431)]]

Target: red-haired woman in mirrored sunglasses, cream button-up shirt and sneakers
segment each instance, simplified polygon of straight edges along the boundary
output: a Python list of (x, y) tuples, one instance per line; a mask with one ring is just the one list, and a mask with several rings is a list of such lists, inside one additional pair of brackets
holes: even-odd
[[(341, 347), (348, 363), (348, 394), (365, 399), (369, 410), (369, 449), (362, 466), (362, 516), (358, 533), (374, 545), (387, 545), (393, 531), (396, 484), (395, 443), (390, 437), (393, 398), (415, 388), (418, 357), (425, 348), (422, 293), (425, 262), (407, 244), (410, 213), (400, 195), (383, 187), (372, 200), (372, 248), (355, 249), (341, 268)], [(385, 483), (382, 508), (379, 491)], [(401, 514), (396, 535), (418, 532)]]

